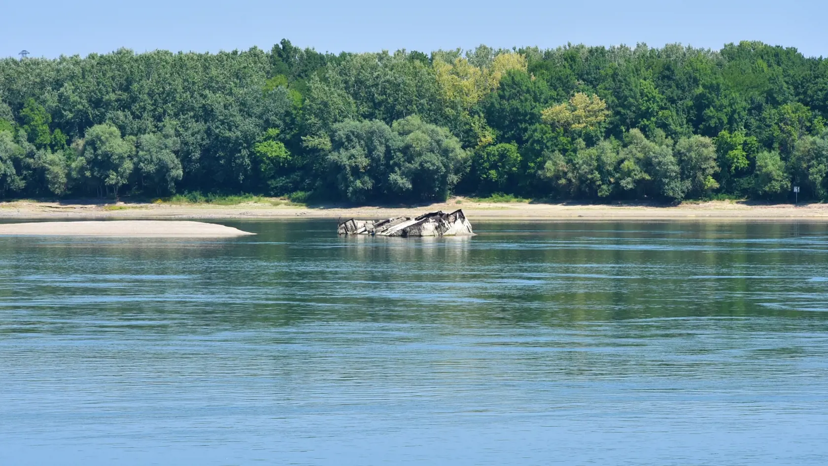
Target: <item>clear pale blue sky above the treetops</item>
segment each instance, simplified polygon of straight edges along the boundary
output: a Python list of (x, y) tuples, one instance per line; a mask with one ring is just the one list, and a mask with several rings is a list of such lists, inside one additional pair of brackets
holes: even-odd
[(759, 40), (828, 56), (826, 0), (267, 2), (0, 0), (0, 56), (269, 49), (282, 37), (318, 51), (555, 47), (566, 42), (719, 49)]

